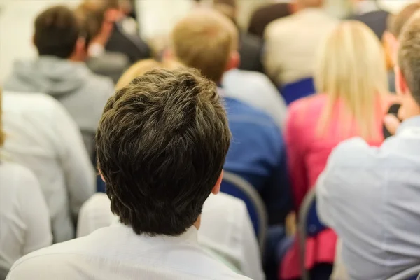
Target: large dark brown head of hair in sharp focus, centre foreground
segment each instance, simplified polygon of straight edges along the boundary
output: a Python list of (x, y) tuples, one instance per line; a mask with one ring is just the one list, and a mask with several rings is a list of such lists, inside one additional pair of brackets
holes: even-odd
[(200, 216), (230, 144), (215, 83), (194, 69), (155, 69), (107, 102), (98, 167), (111, 211), (137, 234), (181, 235)]

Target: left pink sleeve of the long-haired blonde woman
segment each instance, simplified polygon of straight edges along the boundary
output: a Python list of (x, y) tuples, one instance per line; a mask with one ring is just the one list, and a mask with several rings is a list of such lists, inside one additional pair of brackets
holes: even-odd
[(295, 111), (293, 105), (290, 107), (288, 120), (286, 122), (286, 148), (288, 156), (288, 172), (290, 174), (290, 185), (293, 193), (295, 210), (298, 211), (304, 196), (309, 190), (309, 180), (304, 162), (304, 139), (297, 127), (300, 120), (300, 112)]

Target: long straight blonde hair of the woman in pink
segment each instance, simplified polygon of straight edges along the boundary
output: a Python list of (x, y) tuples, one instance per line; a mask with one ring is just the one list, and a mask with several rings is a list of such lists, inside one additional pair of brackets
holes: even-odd
[(321, 46), (315, 67), (317, 92), (328, 95), (319, 120), (318, 132), (325, 134), (338, 102), (341, 133), (356, 122), (358, 133), (366, 140), (381, 137), (375, 129), (378, 102), (387, 92), (384, 50), (365, 24), (346, 21), (330, 33)]

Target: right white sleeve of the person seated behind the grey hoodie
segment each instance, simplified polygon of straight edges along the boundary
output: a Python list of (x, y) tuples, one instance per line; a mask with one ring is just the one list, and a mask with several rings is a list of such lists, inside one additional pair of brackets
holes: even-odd
[(59, 135), (59, 162), (64, 171), (71, 213), (76, 221), (83, 202), (95, 192), (95, 172), (80, 130), (61, 104), (57, 104), (53, 121)]

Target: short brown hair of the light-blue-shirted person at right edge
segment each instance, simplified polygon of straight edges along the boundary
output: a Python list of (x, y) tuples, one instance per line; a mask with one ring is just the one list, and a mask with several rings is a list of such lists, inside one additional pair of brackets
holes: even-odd
[(402, 29), (398, 64), (410, 92), (420, 105), (420, 11), (414, 13)]

